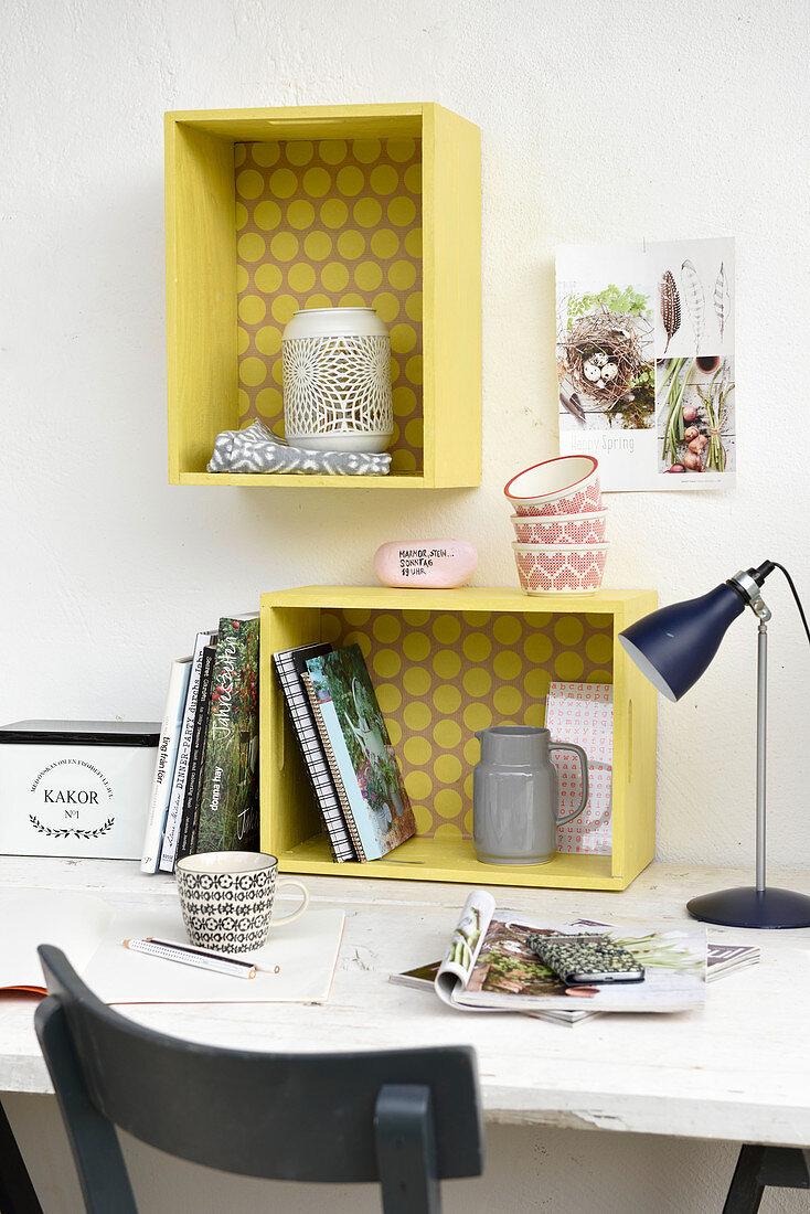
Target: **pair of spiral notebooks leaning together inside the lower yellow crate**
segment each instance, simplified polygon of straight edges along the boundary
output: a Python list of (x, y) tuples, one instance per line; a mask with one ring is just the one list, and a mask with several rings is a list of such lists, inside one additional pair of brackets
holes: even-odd
[(417, 823), (359, 647), (302, 645), (273, 664), (334, 860), (379, 860)]

